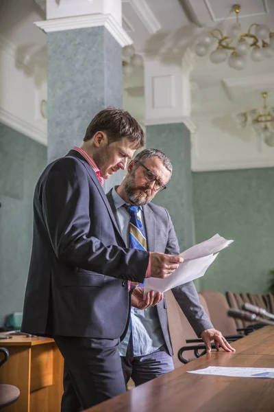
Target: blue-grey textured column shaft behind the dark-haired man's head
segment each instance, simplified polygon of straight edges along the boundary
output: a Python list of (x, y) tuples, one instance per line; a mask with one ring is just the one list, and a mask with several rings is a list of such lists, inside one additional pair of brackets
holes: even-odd
[[(123, 106), (121, 46), (105, 27), (47, 35), (48, 161), (80, 146), (92, 117), (107, 106)], [(118, 184), (117, 172), (105, 189)]]

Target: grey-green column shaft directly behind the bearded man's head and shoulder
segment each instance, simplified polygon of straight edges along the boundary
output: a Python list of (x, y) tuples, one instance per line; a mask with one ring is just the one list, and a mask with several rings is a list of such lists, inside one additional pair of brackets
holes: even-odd
[(190, 170), (190, 132), (182, 123), (147, 126), (147, 148), (162, 150), (171, 158), (173, 175), (166, 190), (154, 203), (166, 207), (182, 251), (193, 244), (192, 175)]

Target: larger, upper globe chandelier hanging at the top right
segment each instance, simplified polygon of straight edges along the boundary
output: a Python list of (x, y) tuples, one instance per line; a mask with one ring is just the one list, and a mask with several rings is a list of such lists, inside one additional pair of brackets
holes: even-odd
[(238, 21), (240, 5), (235, 4), (233, 10), (236, 12), (236, 23), (227, 27), (227, 35), (219, 29), (210, 30), (199, 38), (195, 46), (197, 56), (206, 56), (214, 39), (217, 41), (217, 47), (210, 53), (210, 61), (218, 64), (227, 60), (229, 66), (236, 70), (244, 69), (249, 52), (254, 62), (274, 56), (274, 32), (271, 32), (266, 24), (253, 23), (247, 33), (242, 33)]

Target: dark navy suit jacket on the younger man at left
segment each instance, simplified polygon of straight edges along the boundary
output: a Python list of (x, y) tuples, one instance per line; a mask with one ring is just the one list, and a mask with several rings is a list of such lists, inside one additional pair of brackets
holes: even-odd
[(95, 172), (77, 151), (53, 161), (34, 193), (34, 240), (23, 332), (119, 338), (127, 279), (142, 282), (149, 253), (125, 247)]

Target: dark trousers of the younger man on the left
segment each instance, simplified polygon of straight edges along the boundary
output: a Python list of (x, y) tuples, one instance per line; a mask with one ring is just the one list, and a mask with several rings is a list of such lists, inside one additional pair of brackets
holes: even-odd
[(120, 339), (54, 336), (64, 356), (62, 412), (79, 412), (125, 392)]

